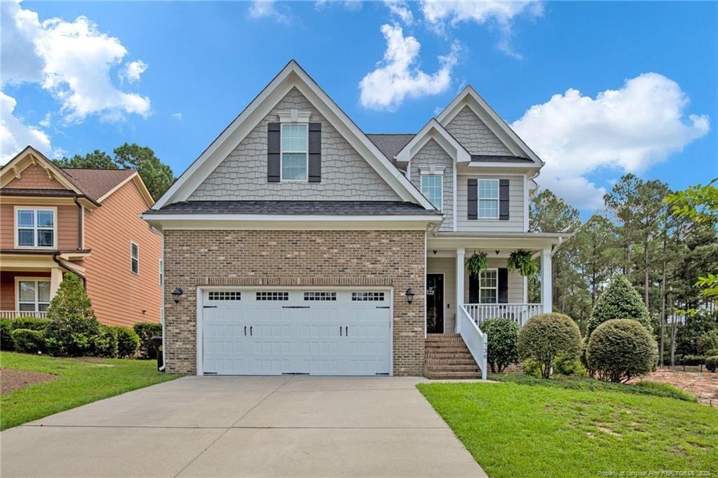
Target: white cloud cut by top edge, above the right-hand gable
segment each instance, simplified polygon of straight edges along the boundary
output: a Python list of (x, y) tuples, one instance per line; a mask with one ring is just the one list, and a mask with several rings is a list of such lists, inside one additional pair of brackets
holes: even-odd
[(522, 14), (526, 17), (541, 17), (544, 6), (538, 0), (424, 0), (421, 12), (426, 23), (437, 32), (444, 32), (447, 26), (456, 27), (461, 22), (496, 26), (500, 30), (498, 49), (506, 55), (521, 59), (521, 55), (511, 47), (513, 19)]

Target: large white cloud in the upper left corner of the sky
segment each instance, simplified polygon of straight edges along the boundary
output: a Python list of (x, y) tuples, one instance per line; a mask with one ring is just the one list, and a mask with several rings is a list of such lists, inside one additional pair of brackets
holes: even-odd
[(104, 119), (149, 115), (149, 98), (118, 90), (111, 81), (111, 68), (127, 53), (119, 39), (98, 31), (86, 17), (40, 22), (18, 3), (2, 2), (0, 8), (4, 83), (39, 83), (60, 101), (68, 122), (95, 114)]

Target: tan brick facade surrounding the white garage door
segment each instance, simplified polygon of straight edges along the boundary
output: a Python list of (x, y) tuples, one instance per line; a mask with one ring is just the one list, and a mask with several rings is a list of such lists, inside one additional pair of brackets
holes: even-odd
[[(197, 286), (393, 286), (394, 375), (424, 373), (423, 230), (166, 230), (165, 355), (195, 374)], [(172, 289), (185, 290), (179, 304)], [(404, 291), (416, 296), (406, 303)]]

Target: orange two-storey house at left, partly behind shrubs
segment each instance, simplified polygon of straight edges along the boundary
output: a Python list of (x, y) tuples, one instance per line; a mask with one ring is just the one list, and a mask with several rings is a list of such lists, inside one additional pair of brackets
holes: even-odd
[(162, 235), (136, 171), (60, 168), (28, 146), (0, 174), (0, 317), (43, 317), (73, 271), (100, 322), (159, 322)]

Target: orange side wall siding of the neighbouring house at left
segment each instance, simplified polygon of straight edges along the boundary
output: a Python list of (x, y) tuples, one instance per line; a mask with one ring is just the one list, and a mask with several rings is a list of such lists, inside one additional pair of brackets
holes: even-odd
[[(106, 324), (131, 327), (136, 322), (159, 322), (162, 237), (151, 233), (139, 217), (147, 209), (130, 181), (102, 207), (85, 211), (85, 247), (92, 250), (84, 261), (88, 294), (95, 315)], [(139, 275), (130, 271), (131, 240), (139, 244)]]

